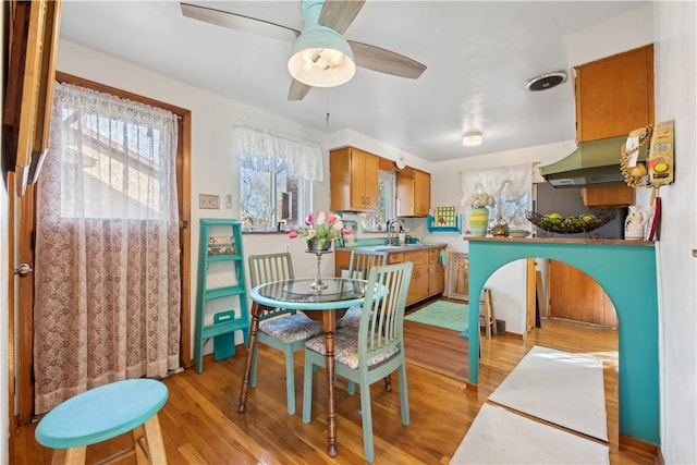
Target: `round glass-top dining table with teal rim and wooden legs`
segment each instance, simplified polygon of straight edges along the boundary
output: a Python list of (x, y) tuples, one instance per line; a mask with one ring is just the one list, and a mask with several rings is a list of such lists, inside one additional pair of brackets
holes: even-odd
[[(334, 332), (339, 320), (348, 308), (362, 306), (366, 294), (367, 281), (351, 278), (323, 278), (323, 289), (315, 289), (315, 278), (274, 281), (257, 285), (252, 290), (252, 325), (249, 328), (249, 350), (240, 392), (239, 412), (244, 413), (247, 407), (249, 391), (249, 374), (252, 369), (253, 351), (256, 347), (259, 316), (264, 307), (281, 307), (301, 310), (309, 318), (321, 321), (325, 330), (327, 346), (327, 392), (328, 395), (328, 432), (327, 452), (335, 457), (337, 451), (337, 411), (334, 403)], [(378, 298), (383, 293), (376, 293)]]

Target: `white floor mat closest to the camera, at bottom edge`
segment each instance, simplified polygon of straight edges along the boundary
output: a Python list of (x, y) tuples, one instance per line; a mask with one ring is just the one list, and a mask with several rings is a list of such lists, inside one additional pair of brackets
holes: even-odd
[(607, 445), (484, 404), (451, 458), (461, 464), (609, 464)]

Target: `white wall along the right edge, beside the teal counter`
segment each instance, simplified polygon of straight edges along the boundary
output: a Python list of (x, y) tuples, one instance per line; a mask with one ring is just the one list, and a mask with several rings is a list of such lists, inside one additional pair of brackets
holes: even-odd
[[(668, 464), (697, 463), (697, 8), (655, 3), (656, 121), (675, 120), (675, 183), (660, 188), (661, 440)], [(650, 278), (650, 277), (647, 277)]]

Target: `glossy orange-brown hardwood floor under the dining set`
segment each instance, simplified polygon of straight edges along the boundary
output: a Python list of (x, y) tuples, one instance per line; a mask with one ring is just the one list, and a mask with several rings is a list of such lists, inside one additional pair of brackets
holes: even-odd
[[(478, 389), (467, 389), (467, 342), (458, 333), (406, 321), (407, 379), (412, 424), (400, 420), (399, 387), (386, 392), (372, 386), (376, 464), (448, 464), (481, 404), (535, 344), (600, 356), (606, 360), (608, 432), (611, 464), (650, 464), (651, 454), (620, 450), (617, 440), (616, 331), (587, 329), (546, 321), (526, 341), (519, 336), (482, 339)], [(297, 414), (285, 409), (284, 366), (281, 354), (262, 346), (257, 388), (250, 391), (245, 414), (237, 413), (241, 374), (246, 350), (234, 357), (206, 359), (204, 372), (188, 369), (164, 380), (168, 403), (160, 424), (171, 464), (306, 464), (364, 463), (359, 396), (348, 396), (345, 384), (337, 389), (339, 456), (326, 454), (326, 393), (323, 371), (316, 375), (313, 420), (301, 418), (303, 355), (295, 358)], [(420, 365), (420, 366), (419, 366)], [(424, 368), (427, 366), (428, 368)], [(445, 372), (449, 376), (439, 374)], [(396, 377), (396, 375), (393, 375)], [(461, 378), (461, 379), (457, 379)], [(109, 408), (105, 405), (105, 408)], [(35, 425), (11, 437), (12, 464), (49, 464), (51, 451), (37, 444)], [(130, 436), (89, 446), (87, 462), (95, 463), (131, 444)], [(118, 463), (135, 463), (126, 456)]]

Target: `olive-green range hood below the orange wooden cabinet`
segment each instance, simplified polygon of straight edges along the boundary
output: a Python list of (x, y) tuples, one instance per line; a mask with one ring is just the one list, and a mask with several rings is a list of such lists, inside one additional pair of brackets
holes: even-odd
[(619, 136), (580, 143), (570, 156), (540, 167), (540, 173), (554, 187), (622, 184), (620, 158), (626, 140)]

